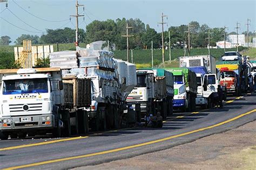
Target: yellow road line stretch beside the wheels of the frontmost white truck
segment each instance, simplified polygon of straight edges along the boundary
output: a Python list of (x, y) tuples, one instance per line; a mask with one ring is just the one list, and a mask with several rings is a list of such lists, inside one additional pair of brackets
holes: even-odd
[(67, 139), (43, 141), (43, 142), (36, 143), (36, 144), (28, 144), (28, 145), (19, 145), (19, 146), (4, 147), (4, 148), (0, 148), (0, 151), (14, 150), (14, 149), (23, 148), (23, 147), (31, 147), (31, 146), (39, 146), (39, 145), (54, 144), (54, 143), (58, 143), (58, 142), (61, 142), (61, 141), (70, 141), (70, 140), (84, 139), (84, 138), (88, 138), (88, 137), (89, 137), (89, 136), (74, 137), (74, 138), (67, 138)]

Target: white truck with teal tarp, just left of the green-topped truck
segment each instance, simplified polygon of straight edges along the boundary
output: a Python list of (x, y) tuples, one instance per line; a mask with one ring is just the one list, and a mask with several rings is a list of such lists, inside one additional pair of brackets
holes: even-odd
[(137, 69), (137, 85), (128, 95), (128, 105), (140, 104), (140, 112), (166, 118), (172, 115), (173, 74), (162, 68)]

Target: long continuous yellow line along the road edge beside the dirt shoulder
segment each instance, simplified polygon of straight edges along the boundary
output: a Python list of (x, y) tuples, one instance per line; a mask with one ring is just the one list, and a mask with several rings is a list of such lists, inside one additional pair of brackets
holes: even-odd
[(55, 162), (60, 162), (60, 161), (66, 161), (66, 160), (73, 160), (73, 159), (80, 159), (80, 158), (86, 158), (86, 157), (93, 157), (96, 155), (102, 155), (102, 154), (107, 154), (107, 153), (113, 153), (113, 152), (118, 152), (118, 151), (124, 151), (124, 150), (129, 150), (131, 148), (136, 148), (136, 147), (140, 147), (140, 146), (146, 146), (146, 145), (150, 145), (150, 144), (155, 144), (155, 143), (159, 143), (161, 141), (166, 141), (166, 140), (170, 140), (173, 138), (178, 138), (178, 137), (182, 137), (182, 136), (186, 136), (188, 134), (192, 134), (192, 133), (196, 133), (196, 132), (200, 132), (200, 131), (204, 131), (204, 130), (208, 130), (208, 129), (212, 129), (215, 128), (217, 126), (232, 122), (238, 118), (241, 118), (243, 116), (249, 115), (252, 112), (255, 112), (256, 109), (253, 109), (251, 111), (246, 112), (245, 114), (241, 114), (239, 116), (233, 117), (231, 119), (228, 119), (227, 121), (224, 122), (220, 122), (218, 124), (215, 125), (211, 125), (211, 126), (207, 126), (205, 128), (201, 128), (201, 129), (197, 129), (197, 130), (193, 130), (193, 131), (189, 131), (189, 132), (185, 132), (185, 133), (181, 133), (181, 134), (177, 134), (174, 136), (170, 136), (167, 138), (162, 138), (162, 139), (158, 139), (158, 140), (152, 140), (152, 141), (148, 141), (146, 143), (142, 143), (142, 144), (137, 144), (137, 145), (131, 145), (131, 146), (126, 146), (126, 147), (120, 147), (120, 148), (116, 148), (113, 150), (108, 150), (108, 151), (103, 151), (103, 152), (96, 152), (96, 153), (90, 153), (90, 154), (85, 154), (85, 155), (79, 155), (79, 156), (75, 156), (75, 157), (68, 157), (68, 158), (60, 158), (60, 159), (53, 159), (53, 160), (48, 160), (48, 161), (42, 161), (42, 162), (36, 162), (33, 164), (27, 164), (27, 165), (21, 165), (21, 166), (14, 166), (14, 167), (9, 167), (9, 168), (5, 168), (5, 169), (19, 169), (19, 168), (28, 168), (28, 167), (33, 167), (33, 166), (39, 166), (39, 165), (45, 165), (45, 164), (51, 164), (51, 163), (55, 163)]

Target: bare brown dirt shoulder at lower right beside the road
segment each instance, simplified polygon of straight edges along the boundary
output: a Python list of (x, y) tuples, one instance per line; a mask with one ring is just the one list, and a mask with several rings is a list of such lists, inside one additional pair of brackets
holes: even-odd
[(77, 169), (255, 169), (256, 121), (168, 150)]

